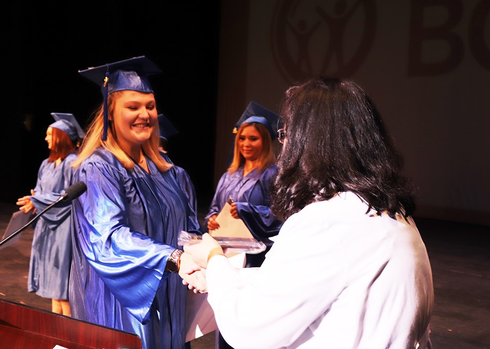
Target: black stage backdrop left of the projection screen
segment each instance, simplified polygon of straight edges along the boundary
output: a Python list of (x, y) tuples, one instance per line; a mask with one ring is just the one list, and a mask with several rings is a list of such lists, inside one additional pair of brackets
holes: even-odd
[(102, 102), (78, 71), (137, 56), (162, 69), (151, 76), (159, 113), (179, 130), (168, 154), (194, 182), (199, 205), (213, 194), (220, 7), (206, 2), (24, 2), (4, 6), (4, 151), (0, 201), (35, 186), (48, 156), (50, 113), (72, 113), (82, 127)]

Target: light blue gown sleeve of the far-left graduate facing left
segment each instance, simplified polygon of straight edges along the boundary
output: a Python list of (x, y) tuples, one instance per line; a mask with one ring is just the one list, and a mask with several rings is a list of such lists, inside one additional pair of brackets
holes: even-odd
[[(67, 157), (61, 162), (58, 166), (63, 166), (63, 174), (61, 178), (61, 183), (55, 183), (55, 187), (59, 188), (59, 190), (54, 192), (43, 193), (43, 186), (52, 187), (52, 181), (59, 181), (59, 177), (50, 177), (44, 174), (44, 169), (48, 166), (46, 160), (41, 164), (39, 171), (36, 186), (34, 188), (34, 195), (31, 196), (31, 202), (36, 208), (36, 213), (39, 214), (50, 206), (53, 202), (58, 200), (58, 198), (64, 193), (64, 190), (71, 183), (71, 175), (73, 173), (73, 168), (70, 166), (72, 161), (71, 157)], [(54, 207), (53, 207), (54, 208)], [(42, 214), (42, 219), (46, 222), (46, 224), (52, 230), (56, 230), (56, 228), (63, 223), (71, 213), (71, 202), (60, 202), (56, 204), (56, 209), (48, 209)]]

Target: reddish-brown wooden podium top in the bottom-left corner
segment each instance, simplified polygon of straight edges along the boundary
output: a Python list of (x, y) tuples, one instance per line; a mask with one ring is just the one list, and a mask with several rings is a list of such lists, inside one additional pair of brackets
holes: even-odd
[(0, 343), (10, 349), (141, 349), (128, 332), (0, 299)]

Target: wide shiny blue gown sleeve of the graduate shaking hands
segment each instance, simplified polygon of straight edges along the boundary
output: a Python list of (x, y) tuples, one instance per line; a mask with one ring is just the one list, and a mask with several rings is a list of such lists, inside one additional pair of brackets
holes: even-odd
[[(74, 201), (74, 235), (96, 274), (114, 297), (141, 323), (148, 319), (156, 291), (167, 278), (165, 264), (175, 247), (136, 231), (133, 221), (145, 223), (131, 177), (111, 165), (88, 163), (74, 180), (87, 184), (87, 191)], [(141, 228), (141, 226), (140, 226)]]

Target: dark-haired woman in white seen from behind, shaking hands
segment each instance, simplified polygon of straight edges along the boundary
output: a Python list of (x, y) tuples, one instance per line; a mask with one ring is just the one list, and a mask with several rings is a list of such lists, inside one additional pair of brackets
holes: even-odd
[(208, 234), (220, 333), (239, 348), (427, 348), (432, 273), (402, 158), (371, 98), (317, 77), (287, 90), (272, 210), (285, 220), (260, 268), (236, 270)]

